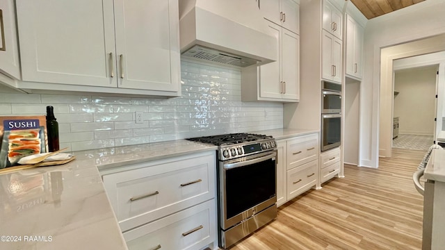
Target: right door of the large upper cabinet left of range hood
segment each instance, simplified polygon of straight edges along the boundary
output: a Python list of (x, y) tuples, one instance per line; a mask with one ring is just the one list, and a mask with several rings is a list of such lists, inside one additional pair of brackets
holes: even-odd
[(114, 3), (119, 88), (179, 90), (178, 1)]

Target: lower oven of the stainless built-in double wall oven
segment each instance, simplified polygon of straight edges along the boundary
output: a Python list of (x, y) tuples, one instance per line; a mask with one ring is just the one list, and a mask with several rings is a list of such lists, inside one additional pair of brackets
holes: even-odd
[(341, 114), (321, 115), (321, 151), (341, 144)]

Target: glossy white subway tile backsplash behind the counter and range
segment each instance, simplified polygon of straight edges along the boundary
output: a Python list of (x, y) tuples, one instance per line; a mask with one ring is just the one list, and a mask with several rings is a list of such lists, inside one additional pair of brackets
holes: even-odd
[(282, 103), (241, 101), (239, 69), (182, 60), (181, 78), (182, 96), (172, 99), (0, 92), (0, 115), (54, 106), (60, 148), (72, 151), (283, 127)]

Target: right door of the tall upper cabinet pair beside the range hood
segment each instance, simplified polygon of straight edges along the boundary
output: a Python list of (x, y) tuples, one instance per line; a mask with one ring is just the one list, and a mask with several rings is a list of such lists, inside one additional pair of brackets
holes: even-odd
[(282, 30), (282, 81), (283, 99), (300, 99), (300, 36)]

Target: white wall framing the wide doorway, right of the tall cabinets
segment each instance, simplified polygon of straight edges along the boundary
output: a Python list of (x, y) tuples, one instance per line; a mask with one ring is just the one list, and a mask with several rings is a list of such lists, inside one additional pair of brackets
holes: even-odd
[(366, 24), (364, 78), (360, 85), (360, 165), (378, 167), (380, 49), (445, 33), (444, 13), (445, 1), (428, 0), (375, 17)]

